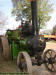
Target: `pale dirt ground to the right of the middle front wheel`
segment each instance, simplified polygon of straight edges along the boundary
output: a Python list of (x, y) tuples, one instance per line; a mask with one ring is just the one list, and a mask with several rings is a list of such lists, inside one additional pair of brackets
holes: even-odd
[[(47, 50), (47, 49), (54, 49), (56, 51), (56, 43), (47, 42), (45, 50)], [(42, 64), (40, 67), (33, 66), (33, 74), (34, 75), (56, 75), (56, 73), (49, 72), (46, 69), (44, 64)]]

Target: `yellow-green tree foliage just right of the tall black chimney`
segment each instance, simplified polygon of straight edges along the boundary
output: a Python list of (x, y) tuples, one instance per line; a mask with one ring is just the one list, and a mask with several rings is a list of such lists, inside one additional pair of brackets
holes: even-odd
[(52, 4), (49, 0), (41, 0), (38, 2), (38, 25), (39, 29), (46, 26), (46, 22), (51, 19), (49, 15), (52, 12)]

